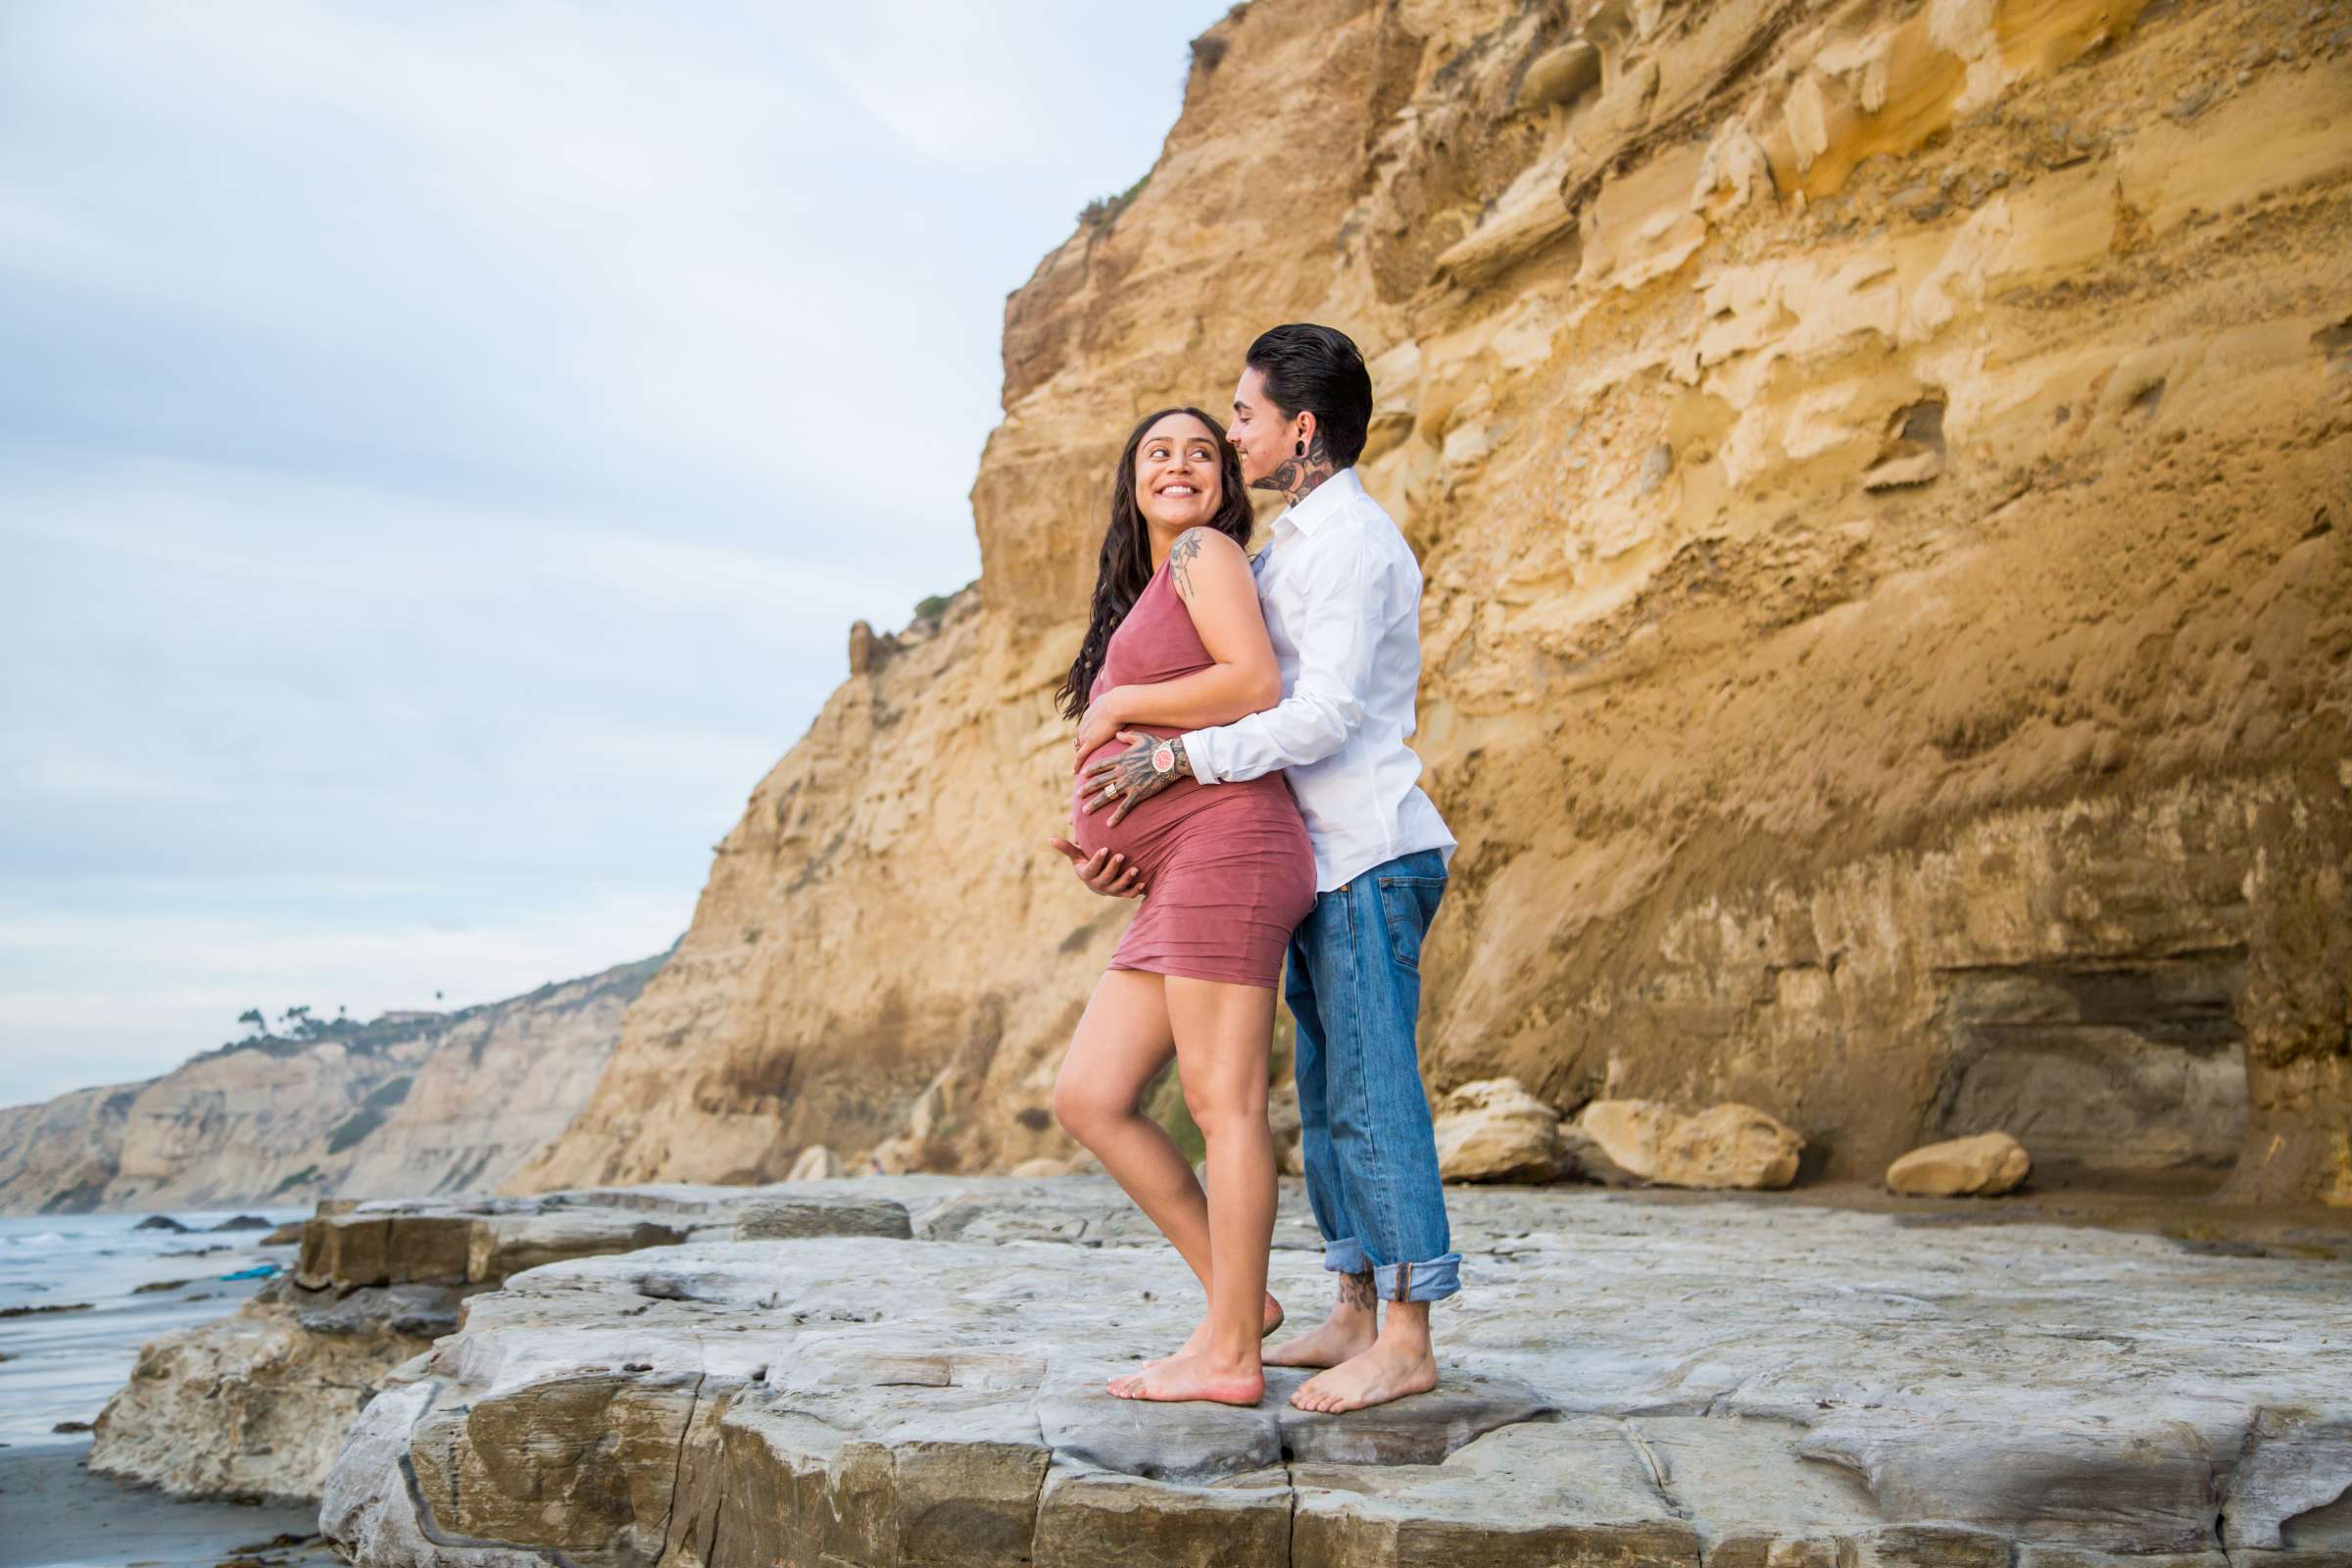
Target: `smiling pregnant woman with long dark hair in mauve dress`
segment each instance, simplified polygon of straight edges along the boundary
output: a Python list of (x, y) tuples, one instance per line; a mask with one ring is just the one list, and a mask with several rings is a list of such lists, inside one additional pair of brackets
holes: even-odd
[[(1054, 1114), (1167, 1234), (1209, 1293), (1183, 1347), (1110, 1382), (1124, 1399), (1256, 1403), (1258, 1340), (1282, 1321), (1265, 1293), (1275, 1143), (1265, 1126), (1275, 980), (1291, 926), (1315, 905), (1315, 851), (1279, 773), (1204, 788), (1183, 773), (1192, 729), (1272, 708), (1282, 677), (1242, 543), (1251, 512), (1225, 430), (1200, 409), (1148, 416), (1112, 480), (1094, 614), (1070, 677), (1077, 769), (1160, 736), (1176, 783), (1127, 809), (1080, 783), (1073, 860), (1124, 863), (1143, 907), (1110, 954), (1054, 1084)], [(1117, 858), (1117, 860), (1115, 860)], [(1202, 1194), (1176, 1143), (1143, 1114), (1176, 1056), (1207, 1143)]]

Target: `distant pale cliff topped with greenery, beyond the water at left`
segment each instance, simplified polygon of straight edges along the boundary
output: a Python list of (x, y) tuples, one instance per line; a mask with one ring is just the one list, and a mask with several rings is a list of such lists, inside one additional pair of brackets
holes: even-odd
[(0, 1110), (0, 1213), (492, 1190), (588, 1100), (663, 957)]

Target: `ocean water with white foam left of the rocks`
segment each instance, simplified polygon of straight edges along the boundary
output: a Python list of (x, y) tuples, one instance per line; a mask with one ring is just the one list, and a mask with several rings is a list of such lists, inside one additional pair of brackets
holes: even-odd
[[(139, 1347), (238, 1309), (261, 1279), (221, 1279), (261, 1262), (294, 1267), (292, 1246), (261, 1246), (266, 1229), (209, 1232), (252, 1213), (273, 1227), (310, 1208), (174, 1208), (188, 1234), (139, 1229), (146, 1213), (0, 1215), (0, 1307), (87, 1302), (80, 1312), (0, 1316), (0, 1443), (59, 1441), (61, 1420), (96, 1420), (129, 1382)], [(200, 1253), (219, 1246), (223, 1251)], [(183, 1281), (165, 1291), (143, 1284)], [(80, 1439), (87, 1441), (87, 1439)]]

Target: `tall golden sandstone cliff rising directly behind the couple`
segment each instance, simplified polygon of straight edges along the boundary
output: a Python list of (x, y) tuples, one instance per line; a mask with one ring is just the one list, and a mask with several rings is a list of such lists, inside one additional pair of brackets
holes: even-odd
[(1256, 0), (1011, 296), (983, 576), (854, 672), (517, 1187), (1065, 1152), (1042, 839), (1129, 418), (1345, 327), (1423, 555), (1435, 1088), (1818, 1173), (2352, 1201), (2352, 28), (2303, 0)]

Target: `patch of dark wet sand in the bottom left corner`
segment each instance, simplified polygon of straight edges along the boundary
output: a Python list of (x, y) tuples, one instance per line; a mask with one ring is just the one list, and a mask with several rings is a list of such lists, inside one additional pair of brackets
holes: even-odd
[[(181, 1502), (89, 1472), (89, 1439), (0, 1448), (0, 1568), (320, 1568), (303, 1505)], [(294, 1537), (292, 1544), (278, 1544)]]

